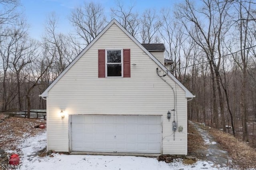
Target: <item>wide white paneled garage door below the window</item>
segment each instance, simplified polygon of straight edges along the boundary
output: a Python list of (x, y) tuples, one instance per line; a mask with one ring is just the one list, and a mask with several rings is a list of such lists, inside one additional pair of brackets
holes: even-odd
[(160, 153), (161, 117), (72, 115), (72, 151)]

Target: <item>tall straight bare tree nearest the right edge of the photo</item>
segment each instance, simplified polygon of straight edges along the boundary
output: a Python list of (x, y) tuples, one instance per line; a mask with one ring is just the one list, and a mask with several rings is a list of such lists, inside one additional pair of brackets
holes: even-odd
[[(252, 45), (255, 43), (255, 38), (252, 38), (254, 32), (254, 25), (251, 25), (250, 22), (254, 21), (251, 15), (251, 0), (238, 0), (238, 7), (236, 8), (238, 12), (238, 22), (236, 26), (238, 28), (239, 34), (239, 45), (240, 48), (240, 57), (237, 59), (233, 55), (233, 59), (242, 71), (242, 88), (241, 88), (241, 117), (242, 117), (242, 127), (243, 127), (243, 140), (248, 141), (248, 115), (247, 115), (247, 102), (246, 102), (246, 88), (248, 85), (248, 61), (249, 56), (252, 51)], [(236, 6), (235, 6), (236, 7)]]

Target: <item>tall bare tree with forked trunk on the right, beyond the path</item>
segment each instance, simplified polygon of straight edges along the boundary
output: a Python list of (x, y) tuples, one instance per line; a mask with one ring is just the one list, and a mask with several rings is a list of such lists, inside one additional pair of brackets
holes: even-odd
[[(185, 27), (187, 34), (198, 43), (208, 59), (212, 77), (214, 121), (216, 127), (218, 127), (219, 121), (215, 94), (217, 87), (222, 129), (226, 131), (219, 69), (222, 62), (221, 45), (224, 41), (224, 36), (229, 30), (227, 20), (231, 2), (218, 0), (202, 0), (201, 2), (203, 7), (197, 9), (195, 4), (190, 2), (190, 0), (186, 0), (185, 4), (178, 6), (175, 14)], [(205, 22), (202, 22), (202, 20), (205, 20)], [(195, 30), (191, 29), (190, 24), (194, 26)], [(215, 57), (216, 51), (218, 51), (218, 57)]]

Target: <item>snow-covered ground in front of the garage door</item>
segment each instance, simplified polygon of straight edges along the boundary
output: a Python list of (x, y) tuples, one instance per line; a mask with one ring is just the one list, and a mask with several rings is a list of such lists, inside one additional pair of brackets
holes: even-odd
[[(156, 158), (140, 156), (102, 156), (52, 154), (53, 157), (37, 156), (46, 146), (46, 132), (26, 138), (20, 150), (21, 170), (198, 170), (212, 168), (211, 162), (198, 161), (194, 165), (184, 165), (181, 160), (172, 163), (158, 162)], [(228, 168), (222, 168), (223, 170)]]

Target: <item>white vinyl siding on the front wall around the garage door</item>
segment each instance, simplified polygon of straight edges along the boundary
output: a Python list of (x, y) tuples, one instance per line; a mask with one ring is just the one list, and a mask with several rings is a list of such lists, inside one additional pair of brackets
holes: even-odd
[[(98, 49), (130, 49), (130, 63), (136, 63), (130, 66), (131, 76), (98, 78)], [(48, 92), (47, 149), (70, 151), (68, 116), (61, 120), (59, 115), (63, 109), (68, 115), (163, 115), (162, 154), (187, 154), (185, 91), (164, 77), (178, 94), (178, 127), (183, 132), (175, 132), (174, 140), (173, 112), (170, 122), (166, 118), (174, 109), (174, 93), (156, 74), (157, 67), (116, 24), (110, 26)]]

